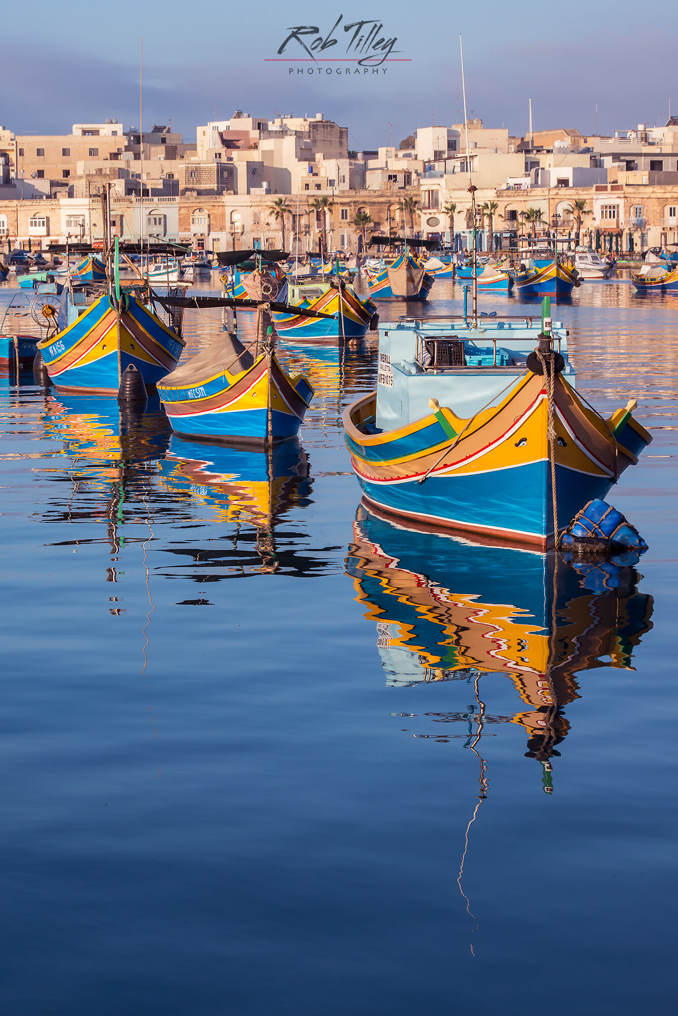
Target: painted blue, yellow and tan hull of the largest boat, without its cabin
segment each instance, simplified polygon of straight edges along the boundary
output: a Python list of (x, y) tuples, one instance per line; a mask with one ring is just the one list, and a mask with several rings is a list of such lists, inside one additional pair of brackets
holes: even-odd
[[(394, 431), (365, 434), (376, 395), (344, 414), (346, 445), (367, 501), (432, 527), (545, 550), (553, 541), (548, 396), (526, 372), (503, 401), (468, 421), (449, 408)], [(555, 484), (558, 532), (652, 440), (627, 410), (603, 421), (556, 381)]]

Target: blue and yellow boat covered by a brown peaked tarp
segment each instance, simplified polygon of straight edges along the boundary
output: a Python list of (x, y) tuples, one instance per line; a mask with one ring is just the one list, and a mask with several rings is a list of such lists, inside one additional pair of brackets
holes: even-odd
[(253, 356), (230, 332), (164, 377), (157, 391), (178, 434), (250, 444), (294, 437), (314, 394), (270, 347)]

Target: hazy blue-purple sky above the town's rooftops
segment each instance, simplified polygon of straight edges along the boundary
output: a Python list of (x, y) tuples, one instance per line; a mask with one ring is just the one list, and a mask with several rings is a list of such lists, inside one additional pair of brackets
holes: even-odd
[[(390, 144), (392, 132), (398, 144), (419, 126), (457, 122), (458, 89), (463, 120), (462, 33), (468, 116), (486, 127), (524, 135), (530, 98), (534, 130), (594, 133), (596, 104), (599, 133), (653, 126), (666, 123), (671, 99), (678, 115), (678, 4), (655, 0), (652, 17), (643, 9), (637, 0), (538, 8), (505, 0), (5, 4), (0, 123), (17, 134), (65, 134), (74, 123), (107, 117), (138, 127), (143, 39), (144, 129), (171, 120), (191, 141), (198, 124), (229, 119), (236, 109), (263, 117), (323, 113), (348, 127), (350, 148)], [(355, 29), (344, 26), (365, 21), (366, 35), (375, 18), (383, 27), (371, 41), (391, 45), (390, 59), (365, 74), (346, 59), (363, 54), (347, 52)], [(318, 31), (298, 33), (279, 55), (299, 26)], [(312, 61), (299, 39), (322, 40), (316, 55), (332, 62)]]

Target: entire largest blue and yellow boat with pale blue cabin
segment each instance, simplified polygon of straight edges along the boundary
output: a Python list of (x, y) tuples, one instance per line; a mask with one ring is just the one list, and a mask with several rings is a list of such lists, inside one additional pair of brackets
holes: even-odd
[(512, 334), (513, 323), (463, 319), (428, 329), (419, 318), (380, 326), (377, 391), (344, 412), (346, 445), (370, 504), (546, 549), (553, 496), (559, 536), (637, 461), (652, 438), (631, 415), (635, 403), (604, 420), (574, 391), (564, 329), (551, 331), (544, 319), (546, 331), (523, 325)]

